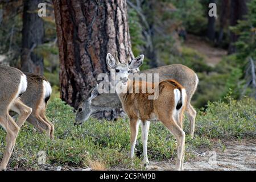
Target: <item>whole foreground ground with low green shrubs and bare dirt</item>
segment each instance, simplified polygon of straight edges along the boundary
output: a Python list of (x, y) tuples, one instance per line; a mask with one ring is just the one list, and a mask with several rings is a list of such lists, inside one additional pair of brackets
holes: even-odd
[[(184, 169), (256, 170), (255, 105), (250, 98), (240, 101), (229, 98), (228, 103), (213, 102), (206, 111), (199, 111), (195, 138), (186, 137)], [(7, 170), (169, 171), (175, 168), (176, 140), (159, 122), (150, 126), (148, 155), (151, 166), (144, 168), (141, 141), (136, 146), (133, 162), (129, 159), (127, 118), (119, 119), (118, 125), (90, 118), (84, 125), (75, 127), (72, 107), (57, 98), (49, 102), (47, 116), (55, 125), (55, 140), (49, 140), (26, 123), (19, 133)], [(188, 126), (189, 121), (185, 118), (186, 133)], [(5, 135), (0, 129), (0, 159)]]

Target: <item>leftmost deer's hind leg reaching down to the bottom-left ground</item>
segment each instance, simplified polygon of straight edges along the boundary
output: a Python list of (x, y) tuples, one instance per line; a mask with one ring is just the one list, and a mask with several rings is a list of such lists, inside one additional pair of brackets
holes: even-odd
[(19, 133), (19, 126), (16, 125), (13, 118), (9, 114), (6, 114), (6, 117), (0, 117), (0, 125), (5, 129), (6, 136), (6, 150), (3, 154), (2, 162), (0, 163), (0, 171), (6, 169), (7, 163), (13, 153), (13, 148), (16, 142), (16, 137)]

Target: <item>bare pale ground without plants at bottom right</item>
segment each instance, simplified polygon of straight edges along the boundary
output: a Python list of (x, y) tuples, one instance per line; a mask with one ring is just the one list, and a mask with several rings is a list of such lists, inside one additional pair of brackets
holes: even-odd
[[(186, 171), (255, 171), (256, 170), (256, 140), (226, 141), (225, 148), (215, 144), (211, 150), (200, 149), (196, 158), (184, 162)], [(163, 162), (150, 160), (148, 170), (174, 170), (175, 161)], [(113, 170), (128, 170), (114, 168)]]

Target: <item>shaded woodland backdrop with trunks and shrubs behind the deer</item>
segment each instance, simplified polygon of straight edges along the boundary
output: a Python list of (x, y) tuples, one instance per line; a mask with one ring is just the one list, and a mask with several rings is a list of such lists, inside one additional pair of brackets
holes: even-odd
[[(208, 16), (212, 2), (217, 18)], [(0, 25), (0, 63), (46, 76), (54, 96), (75, 108), (108, 72), (106, 53), (115, 50), (121, 60), (143, 53), (142, 69), (192, 68), (200, 79), (197, 108), (228, 94), (256, 98), (255, 0), (2, 0)]]

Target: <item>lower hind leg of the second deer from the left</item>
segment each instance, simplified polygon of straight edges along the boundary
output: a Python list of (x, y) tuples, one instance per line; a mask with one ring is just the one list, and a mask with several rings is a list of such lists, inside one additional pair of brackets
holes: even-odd
[(50, 137), (51, 126), (40, 117), (39, 114), (32, 113), (30, 117), (27, 118), (27, 121), (38, 128), (42, 133), (46, 133), (47, 137)]

